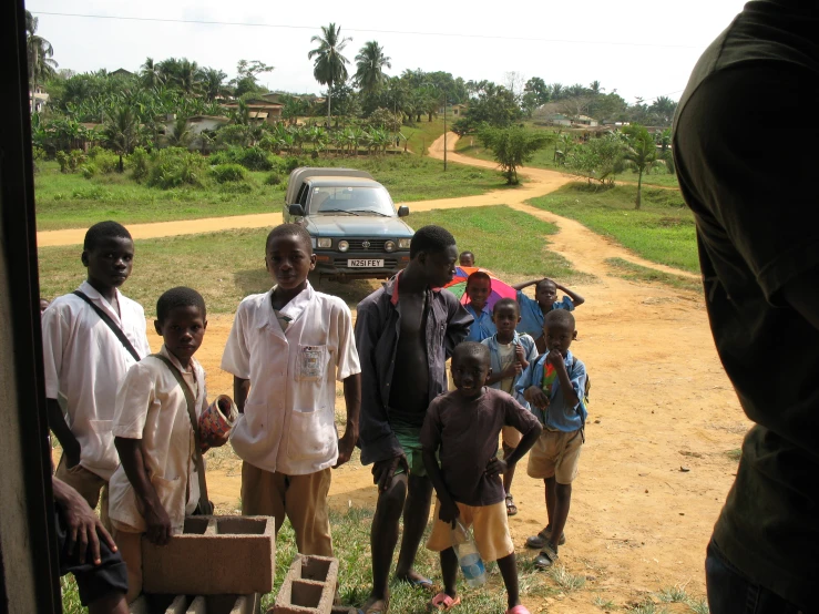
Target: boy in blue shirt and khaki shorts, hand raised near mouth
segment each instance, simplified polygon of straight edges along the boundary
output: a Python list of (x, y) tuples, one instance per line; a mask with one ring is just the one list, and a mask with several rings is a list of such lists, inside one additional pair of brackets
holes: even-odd
[(515, 385), (515, 392), (529, 401), (544, 426), (529, 454), (528, 473), (546, 484), (549, 524), (526, 540), (540, 549), (534, 559), (539, 569), (557, 560), (557, 545), (565, 542), (563, 528), (569, 518), (572, 482), (577, 477), (580, 451), (585, 440), (586, 367), (569, 351), (577, 337), (574, 316), (564, 309), (546, 314), (543, 323), (546, 354), (529, 365)]

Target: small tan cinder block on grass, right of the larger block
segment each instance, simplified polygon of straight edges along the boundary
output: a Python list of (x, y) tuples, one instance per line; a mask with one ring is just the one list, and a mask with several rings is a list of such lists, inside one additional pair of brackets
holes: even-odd
[(338, 560), (297, 554), (268, 614), (331, 614)]

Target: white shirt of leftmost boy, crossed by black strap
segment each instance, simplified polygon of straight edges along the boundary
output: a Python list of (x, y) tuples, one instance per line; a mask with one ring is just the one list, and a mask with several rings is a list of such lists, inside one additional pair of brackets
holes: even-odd
[[(116, 290), (120, 313), (88, 282), (79, 288), (122, 329), (140, 355), (151, 347), (142, 306)], [(116, 390), (135, 364), (83, 299), (61, 296), (42, 315), (45, 396), (65, 399), (66, 423), (80, 442), (80, 464), (109, 480), (120, 464), (111, 434)]]

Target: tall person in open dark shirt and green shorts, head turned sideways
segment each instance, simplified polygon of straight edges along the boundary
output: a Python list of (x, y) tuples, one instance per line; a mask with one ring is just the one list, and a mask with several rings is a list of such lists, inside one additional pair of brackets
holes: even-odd
[(389, 607), (387, 581), (402, 513), (396, 576), (432, 587), (412, 570), (432, 495), (420, 436), (430, 401), (447, 391), (444, 364), (472, 324), (458, 298), (441, 289), (454, 276), (457, 262), (454, 237), (439, 226), (424, 226), (412, 237), (407, 268), (358, 305), (359, 444), (361, 462), (375, 463), (378, 485), (370, 532), (372, 593), (365, 614)]

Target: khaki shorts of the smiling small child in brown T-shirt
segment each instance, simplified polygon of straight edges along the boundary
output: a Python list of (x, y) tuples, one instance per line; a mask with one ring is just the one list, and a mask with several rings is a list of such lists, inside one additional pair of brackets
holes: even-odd
[[(478, 552), (484, 563), (498, 561), (514, 552), (512, 536), (509, 534), (506, 522), (506, 504), (503, 501), (492, 505), (464, 505), (457, 503), (460, 515), (458, 520), (469, 529), (474, 525), (474, 534)], [(438, 518), (441, 510), (441, 501), (436, 498), (436, 511), (433, 512), (432, 533), (427, 540), (427, 548), (433, 552), (442, 552), (452, 548), (452, 525)]]

